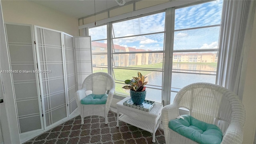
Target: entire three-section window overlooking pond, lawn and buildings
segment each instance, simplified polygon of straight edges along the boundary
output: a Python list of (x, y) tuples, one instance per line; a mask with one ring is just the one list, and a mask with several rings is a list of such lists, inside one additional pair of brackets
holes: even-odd
[[(104, 62), (103, 58), (93, 60), (94, 72), (112, 70), (116, 95), (129, 96), (129, 90), (122, 89), (124, 80), (136, 76), (138, 71), (148, 76), (146, 98), (156, 102), (162, 102), (163, 89), (169, 89), (165, 91), (170, 94), (163, 96), (168, 96), (172, 103), (176, 93), (188, 84), (216, 82), (222, 0), (170, 8), (166, 12), (110, 22), (108, 38), (106, 25), (89, 28), (92, 46), (96, 48), (92, 54), (106, 56)], [(166, 15), (174, 15), (170, 18), (174, 25), (165, 21)], [(111, 42), (111, 52), (107, 40)], [(171, 46), (165, 47), (164, 42), (170, 40)], [(168, 58), (164, 58), (166, 51)], [(107, 54), (111, 55), (109, 61)], [(170, 66), (164, 66), (165, 62)]]

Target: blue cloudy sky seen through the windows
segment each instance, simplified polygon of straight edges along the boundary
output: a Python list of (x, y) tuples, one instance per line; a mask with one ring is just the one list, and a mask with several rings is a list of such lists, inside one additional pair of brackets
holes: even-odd
[[(218, 48), (220, 26), (197, 27), (220, 24), (221, 10), (222, 0), (176, 9), (174, 50)], [(164, 24), (165, 12), (113, 23), (113, 42), (124, 47), (163, 50)], [(158, 34), (152, 34), (155, 32)], [(92, 40), (106, 39), (106, 26), (89, 29), (89, 35)]]

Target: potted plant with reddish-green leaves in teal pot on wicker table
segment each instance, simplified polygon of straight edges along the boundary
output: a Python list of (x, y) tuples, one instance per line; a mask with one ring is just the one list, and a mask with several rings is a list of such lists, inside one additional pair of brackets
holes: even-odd
[(122, 88), (130, 90), (130, 96), (132, 102), (136, 105), (140, 105), (144, 102), (146, 98), (146, 84), (145, 78), (140, 72), (138, 72), (138, 77), (132, 77), (132, 80), (125, 80), (124, 83), (128, 86), (123, 86)]

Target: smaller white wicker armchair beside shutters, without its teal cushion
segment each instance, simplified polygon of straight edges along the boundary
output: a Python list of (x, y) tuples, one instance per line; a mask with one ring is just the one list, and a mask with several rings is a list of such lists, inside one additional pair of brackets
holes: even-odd
[[(81, 100), (86, 97), (88, 90), (91, 90), (93, 94), (106, 94), (108, 92), (106, 104), (81, 104)], [(108, 124), (108, 111), (114, 90), (114, 79), (106, 72), (96, 72), (85, 78), (82, 89), (76, 92), (76, 104), (81, 115), (81, 124), (84, 124), (84, 117), (94, 115), (105, 117), (105, 124)]]

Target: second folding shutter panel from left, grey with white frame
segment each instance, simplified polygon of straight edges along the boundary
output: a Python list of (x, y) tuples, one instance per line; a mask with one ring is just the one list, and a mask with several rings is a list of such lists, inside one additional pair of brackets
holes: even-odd
[(50, 126), (67, 117), (66, 79), (62, 33), (35, 26), (44, 124)]

